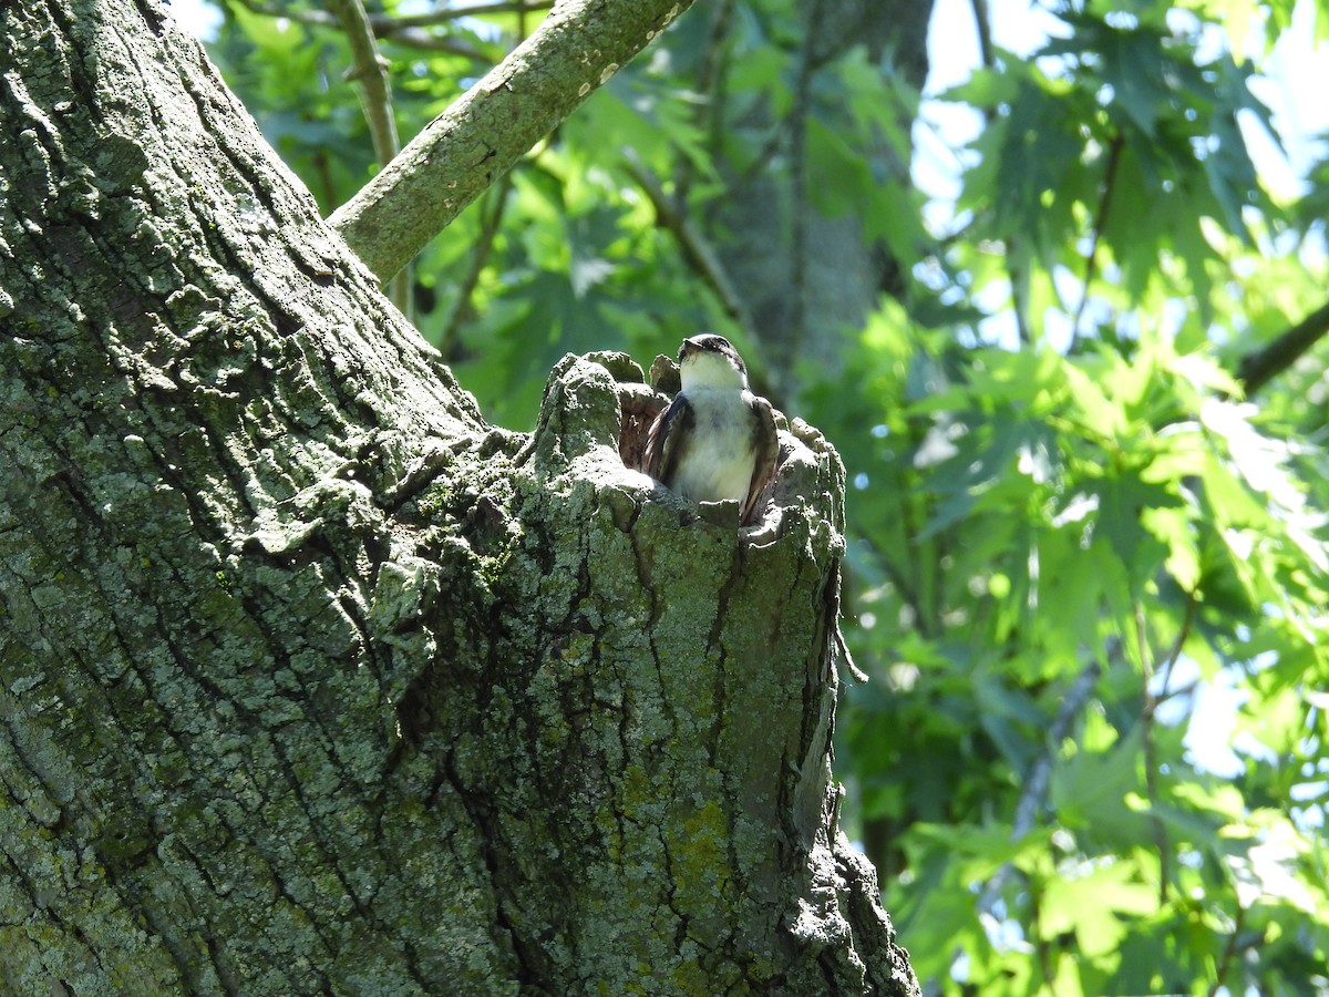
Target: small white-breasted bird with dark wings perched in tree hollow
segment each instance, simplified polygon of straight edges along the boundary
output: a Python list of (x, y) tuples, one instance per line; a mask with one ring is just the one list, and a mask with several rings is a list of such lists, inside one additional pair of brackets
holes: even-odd
[(715, 332), (684, 339), (678, 367), (683, 388), (651, 423), (642, 469), (695, 502), (738, 501), (747, 525), (779, 455), (771, 403), (752, 393), (739, 351)]

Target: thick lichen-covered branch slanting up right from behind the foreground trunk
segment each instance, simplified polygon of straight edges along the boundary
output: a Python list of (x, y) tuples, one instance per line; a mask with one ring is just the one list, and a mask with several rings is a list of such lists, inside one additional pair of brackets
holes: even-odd
[(391, 277), (690, 4), (561, 4), (328, 221)]

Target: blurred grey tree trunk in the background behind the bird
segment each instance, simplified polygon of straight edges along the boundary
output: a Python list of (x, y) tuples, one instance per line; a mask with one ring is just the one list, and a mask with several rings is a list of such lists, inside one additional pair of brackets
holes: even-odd
[[(711, 8), (715, 28), (692, 48), (696, 89), (711, 97), (707, 108), (722, 118), (712, 125), (711, 153), (726, 177), (724, 197), (696, 222), (759, 334), (771, 387), (781, 397), (796, 397), (796, 366), (839, 370), (848, 331), (863, 327), (882, 295), (905, 296), (905, 275), (917, 262), (897, 258), (870, 235), (861, 211), (828, 213), (819, 206), (828, 185), (836, 186), (841, 178), (821, 175), (813, 164), (813, 129), (857, 136), (853, 156), (877, 185), (900, 190), (902, 205), (908, 205), (912, 181), (898, 138), (845, 126), (853, 110), (835, 89), (819, 96), (816, 81), (819, 74), (833, 78), (825, 70), (860, 52), (884, 77), (898, 76), (905, 86), (921, 90), (928, 77), (933, 0), (811, 0), (799, 5), (797, 29), (784, 25), (791, 93), (783, 104), (756, 105), (723, 100), (726, 76), (742, 62), (718, 53), (734, 44), (734, 36), (750, 31), (731, 7)], [(913, 108), (902, 102), (898, 136), (909, 134), (912, 116)], [(735, 141), (735, 133), (748, 136), (750, 142), (759, 137), (780, 165), (754, 169), (751, 146)], [(848, 197), (852, 191), (839, 193)], [(756, 246), (762, 251), (755, 253)]]

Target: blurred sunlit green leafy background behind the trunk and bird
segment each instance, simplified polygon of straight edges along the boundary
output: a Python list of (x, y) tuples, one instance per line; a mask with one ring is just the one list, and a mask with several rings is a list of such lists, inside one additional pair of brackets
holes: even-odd
[[(476, 4), (367, 4), (404, 137), (544, 16)], [(512, 428), (563, 352), (714, 328), (835, 441), (836, 770), (929, 993), (1329, 993), (1329, 150), (1255, 96), (1329, 8), (1015, 7), (699, 4), (409, 308)], [(331, 211), (376, 169), (336, 19), (211, 9)], [(981, 43), (940, 93), (929, 32)]]

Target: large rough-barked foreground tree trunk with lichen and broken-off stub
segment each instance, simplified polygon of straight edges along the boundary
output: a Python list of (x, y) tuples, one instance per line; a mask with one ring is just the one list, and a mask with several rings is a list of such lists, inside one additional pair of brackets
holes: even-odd
[(914, 993), (829, 445), (739, 532), (626, 358), (493, 429), (155, 3), (0, 33), (3, 989)]

